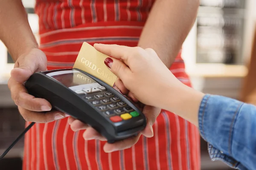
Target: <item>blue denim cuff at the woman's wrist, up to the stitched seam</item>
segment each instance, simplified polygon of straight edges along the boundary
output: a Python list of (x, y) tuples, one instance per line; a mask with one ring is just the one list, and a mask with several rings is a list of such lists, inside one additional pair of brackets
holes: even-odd
[(234, 99), (206, 94), (199, 108), (199, 131), (204, 140), (232, 156), (233, 127), (242, 105)]

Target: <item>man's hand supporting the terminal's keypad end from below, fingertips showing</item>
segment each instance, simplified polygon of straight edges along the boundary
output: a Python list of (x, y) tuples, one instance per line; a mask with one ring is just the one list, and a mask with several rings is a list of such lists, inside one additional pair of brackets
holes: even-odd
[[(103, 147), (103, 150), (106, 153), (110, 153), (110, 152), (117, 151), (117, 150), (124, 150), (124, 149), (130, 148), (134, 144), (136, 144), (138, 142), (138, 140), (140, 139), (141, 135), (144, 135), (146, 137), (153, 137), (154, 132), (153, 132), (152, 126), (153, 126), (157, 116), (159, 115), (160, 111), (161, 111), (161, 109), (159, 109), (159, 108), (145, 105), (145, 107), (143, 108), (143, 113), (145, 114), (145, 116), (147, 118), (147, 125), (146, 125), (145, 129), (139, 135), (137, 135), (135, 137), (131, 137), (131, 138), (119, 141), (119, 142), (115, 142), (113, 144), (106, 143)], [(84, 124), (83, 122), (81, 122), (77, 119), (74, 119), (73, 117), (70, 117), (68, 119), (68, 123), (70, 124), (70, 128), (75, 132), (78, 130), (86, 129), (83, 133), (83, 137), (85, 140), (99, 139), (101, 141), (106, 141), (106, 139), (103, 136), (101, 136), (101, 134), (99, 134), (92, 127), (88, 126), (87, 124)]]

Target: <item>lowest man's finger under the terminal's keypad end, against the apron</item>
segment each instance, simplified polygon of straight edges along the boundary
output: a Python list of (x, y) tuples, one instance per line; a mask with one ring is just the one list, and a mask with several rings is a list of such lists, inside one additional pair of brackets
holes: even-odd
[(128, 149), (138, 142), (138, 140), (140, 139), (140, 136), (141, 136), (141, 133), (138, 134), (137, 136), (125, 139), (123, 141), (115, 142), (113, 144), (106, 143), (103, 147), (103, 150), (106, 153), (110, 153), (117, 150)]

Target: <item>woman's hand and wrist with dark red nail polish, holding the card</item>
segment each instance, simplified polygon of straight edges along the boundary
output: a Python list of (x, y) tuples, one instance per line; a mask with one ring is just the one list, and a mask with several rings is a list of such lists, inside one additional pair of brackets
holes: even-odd
[(198, 108), (204, 93), (180, 82), (154, 50), (103, 44), (94, 47), (113, 57), (107, 58), (105, 64), (140, 102), (171, 111), (198, 126)]

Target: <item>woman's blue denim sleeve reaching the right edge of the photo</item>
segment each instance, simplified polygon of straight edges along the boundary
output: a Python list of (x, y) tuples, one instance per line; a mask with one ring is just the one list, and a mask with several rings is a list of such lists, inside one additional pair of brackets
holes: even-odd
[(256, 169), (256, 106), (205, 95), (198, 113), (201, 136), (223, 155)]

